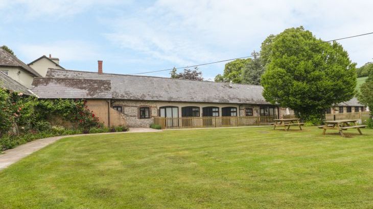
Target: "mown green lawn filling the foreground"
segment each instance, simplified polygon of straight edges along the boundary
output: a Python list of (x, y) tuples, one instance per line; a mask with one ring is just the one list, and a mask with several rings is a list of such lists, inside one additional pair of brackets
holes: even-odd
[(0, 171), (0, 207), (372, 208), (373, 129), (304, 129), (65, 138)]

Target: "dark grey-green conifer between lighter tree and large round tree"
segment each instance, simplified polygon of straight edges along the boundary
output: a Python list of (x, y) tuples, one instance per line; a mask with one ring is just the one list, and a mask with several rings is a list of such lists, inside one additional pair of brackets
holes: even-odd
[(260, 85), (261, 77), (264, 72), (264, 66), (259, 53), (253, 51), (251, 56), (253, 56), (252, 61), (246, 64), (244, 67), (242, 73), (242, 83)]

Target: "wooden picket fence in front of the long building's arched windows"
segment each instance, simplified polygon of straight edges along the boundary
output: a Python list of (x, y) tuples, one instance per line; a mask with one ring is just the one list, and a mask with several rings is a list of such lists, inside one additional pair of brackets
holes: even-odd
[(270, 125), (277, 116), (238, 116), (238, 117), (154, 117), (154, 124), (162, 129), (202, 128), (202, 127), (235, 127), (251, 125)]

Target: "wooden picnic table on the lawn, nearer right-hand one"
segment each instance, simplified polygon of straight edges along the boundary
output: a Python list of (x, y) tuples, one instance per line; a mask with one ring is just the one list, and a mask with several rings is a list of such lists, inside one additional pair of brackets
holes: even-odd
[[(337, 129), (339, 130), (339, 134), (342, 137), (345, 137), (343, 134), (343, 130), (347, 130), (349, 128), (356, 128), (359, 134), (362, 134), (360, 128), (365, 128), (366, 125), (358, 125), (357, 121), (358, 119), (324, 121), (325, 125), (321, 125), (319, 126), (319, 128), (324, 129), (322, 132), (323, 135), (325, 135), (327, 129)], [(351, 125), (350, 123), (352, 123), (353, 125)]]

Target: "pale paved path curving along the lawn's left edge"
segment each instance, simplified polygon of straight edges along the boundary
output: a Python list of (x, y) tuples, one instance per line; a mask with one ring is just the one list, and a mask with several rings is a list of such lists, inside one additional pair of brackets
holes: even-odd
[[(152, 128), (130, 128), (128, 132), (115, 132), (115, 133), (102, 133), (102, 134), (125, 134), (125, 133), (145, 133), (145, 132), (161, 132), (162, 130), (156, 130)], [(78, 134), (68, 136), (49, 137), (44, 139), (38, 139), (26, 144), (19, 145), (14, 149), (5, 150), (3, 154), (0, 154), (0, 171), (4, 168), (12, 165), (13, 163), (25, 158), (29, 154), (37, 151), (53, 142), (65, 138), (65, 137), (77, 137), (77, 136), (88, 136), (88, 135), (99, 135), (99, 134)]]

